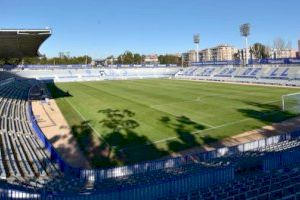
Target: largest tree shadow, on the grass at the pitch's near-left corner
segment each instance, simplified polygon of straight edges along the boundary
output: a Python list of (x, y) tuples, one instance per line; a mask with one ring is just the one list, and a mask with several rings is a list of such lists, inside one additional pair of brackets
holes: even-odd
[(91, 121), (72, 126), (80, 148), (89, 157), (93, 167), (133, 164), (168, 155), (168, 152), (152, 144), (147, 136), (135, 132), (140, 125), (133, 119), (134, 112), (127, 109), (105, 109), (98, 112), (105, 116), (99, 122), (109, 130), (105, 136), (98, 138), (94, 135), (90, 127)]

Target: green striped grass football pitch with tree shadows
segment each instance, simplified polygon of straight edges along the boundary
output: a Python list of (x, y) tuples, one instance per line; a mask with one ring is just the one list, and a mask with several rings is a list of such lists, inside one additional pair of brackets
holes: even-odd
[(278, 88), (172, 79), (49, 84), (95, 167), (130, 164), (237, 135), (295, 115)]

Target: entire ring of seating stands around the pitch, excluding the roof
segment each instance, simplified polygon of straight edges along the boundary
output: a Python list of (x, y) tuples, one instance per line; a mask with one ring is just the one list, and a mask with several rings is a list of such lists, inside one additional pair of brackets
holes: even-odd
[(69, 166), (41, 132), (32, 114), (30, 96), (44, 80), (175, 77), (293, 86), (298, 85), (298, 73), (296, 67), (286, 66), (208, 66), (184, 70), (71, 67), (1, 72), (0, 198), (296, 199), (300, 191), (298, 129), (174, 158), (114, 168), (79, 169)]

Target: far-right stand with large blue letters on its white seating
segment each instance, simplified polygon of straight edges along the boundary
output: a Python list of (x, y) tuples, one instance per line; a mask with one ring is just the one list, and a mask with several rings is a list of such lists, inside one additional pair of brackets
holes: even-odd
[(182, 79), (285, 86), (300, 86), (299, 76), (299, 66), (288, 65), (188, 67), (175, 75), (176, 78)]

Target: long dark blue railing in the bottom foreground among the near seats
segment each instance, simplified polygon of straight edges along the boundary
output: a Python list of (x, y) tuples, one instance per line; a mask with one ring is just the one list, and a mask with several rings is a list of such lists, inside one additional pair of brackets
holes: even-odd
[(17, 186), (7, 186), (0, 190), (1, 199), (99, 199), (99, 200), (132, 200), (132, 199), (156, 199), (167, 194), (179, 194), (191, 189), (199, 189), (215, 184), (222, 184), (234, 179), (234, 168), (231, 165), (212, 167), (200, 170), (189, 175), (177, 177), (170, 176), (164, 181), (140, 183), (122, 187), (116, 190), (93, 191), (92, 194), (57, 193), (49, 194), (43, 189), (36, 191), (22, 189)]

